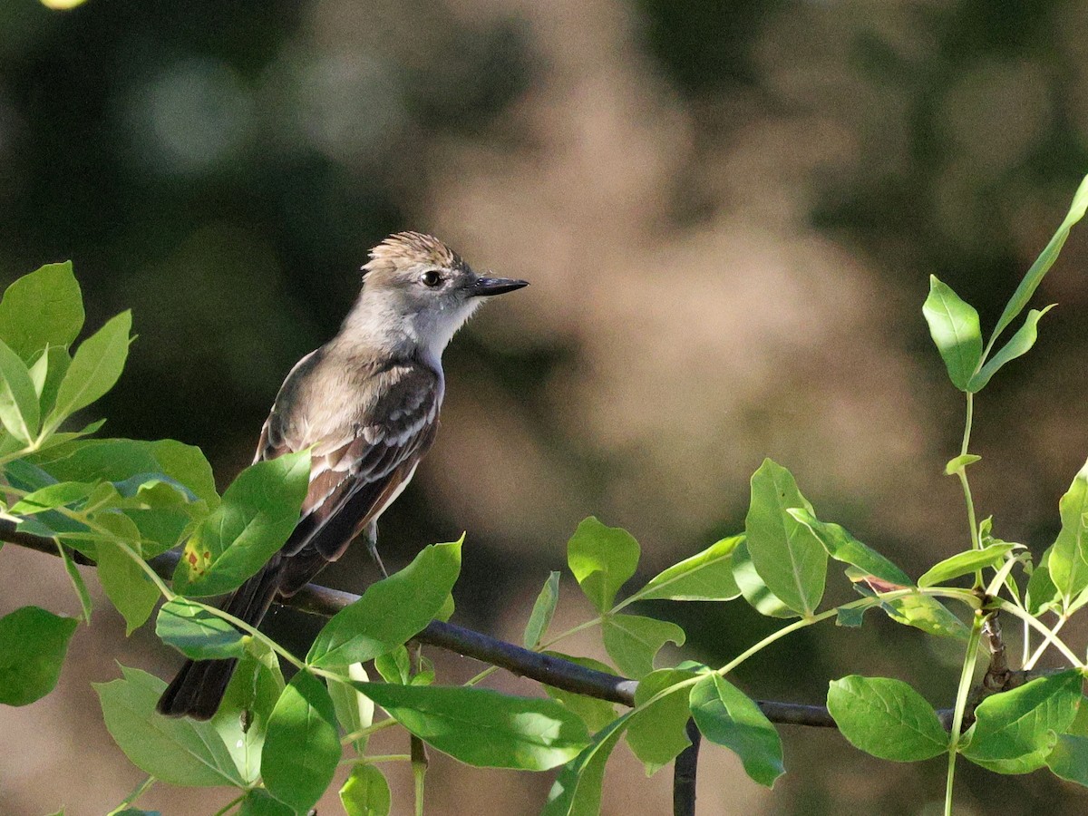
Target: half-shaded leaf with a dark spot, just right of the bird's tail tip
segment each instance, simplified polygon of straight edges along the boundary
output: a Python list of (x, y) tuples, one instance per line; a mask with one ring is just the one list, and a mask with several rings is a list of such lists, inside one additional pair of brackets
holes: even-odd
[(238, 774), (250, 784), (260, 778), (269, 717), (283, 688), (275, 653), (260, 641), (250, 641), (234, 668), (219, 710), (211, 718)]

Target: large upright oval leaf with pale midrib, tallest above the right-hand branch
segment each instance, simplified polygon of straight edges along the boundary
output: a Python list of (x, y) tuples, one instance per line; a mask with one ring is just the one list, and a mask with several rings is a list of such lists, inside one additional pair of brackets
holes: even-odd
[(752, 474), (752, 500), (744, 519), (749, 553), (767, 588), (791, 609), (809, 616), (824, 596), (827, 551), (812, 530), (787, 512), (791, 507), (813, 511), (793, 474), (764, 459)]

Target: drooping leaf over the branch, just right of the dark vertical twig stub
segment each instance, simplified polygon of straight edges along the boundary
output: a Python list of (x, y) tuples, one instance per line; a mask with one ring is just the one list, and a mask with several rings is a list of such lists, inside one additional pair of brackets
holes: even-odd
[(753, 780), (770, 788), (786, 772), (778, 731), (735, 685), (719, 675), (707, 675), (692, 687), (689, 702), (700, 732), (734, 752)]

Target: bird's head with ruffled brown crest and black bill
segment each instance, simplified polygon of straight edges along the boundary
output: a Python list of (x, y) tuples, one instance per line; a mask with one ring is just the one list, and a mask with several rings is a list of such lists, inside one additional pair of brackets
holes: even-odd
[(391, 235), (370, 250), (362, 268), (360, 329), (403, 333), (435, 358), (487, 297), (527, 286), (527, 281), (478, 275), (437, 238)]

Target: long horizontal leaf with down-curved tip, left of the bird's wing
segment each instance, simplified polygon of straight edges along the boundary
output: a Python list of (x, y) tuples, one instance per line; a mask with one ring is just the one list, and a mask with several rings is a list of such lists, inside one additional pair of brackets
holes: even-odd
[(59, 481), (121, 483), (161, 473), (185, 485), (208, 507), (219, 506), (211, 465), (195, 445), (174, 440), (81, 440), (39, 454), (35, 461)]

